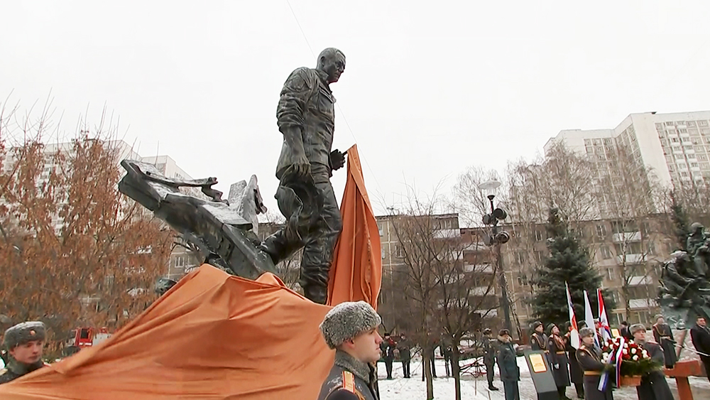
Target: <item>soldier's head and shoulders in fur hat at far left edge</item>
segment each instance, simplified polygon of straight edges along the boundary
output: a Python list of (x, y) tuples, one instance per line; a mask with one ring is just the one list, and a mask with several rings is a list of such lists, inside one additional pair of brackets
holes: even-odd
[(40, 321), (19, 323), (5, 331), (3, 345), (9, 353), (9, 360), (0, 371), (0, 384), (48, 365), (42, 361), (45, 337), (45, 325)]

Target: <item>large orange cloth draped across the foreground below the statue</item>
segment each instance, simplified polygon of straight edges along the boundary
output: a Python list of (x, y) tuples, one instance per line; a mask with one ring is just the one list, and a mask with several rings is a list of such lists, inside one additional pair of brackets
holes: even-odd
[(203, 265), (97, 347), (0, 385), (0, 399), (316, 399), (327, 306), (277, 277)]

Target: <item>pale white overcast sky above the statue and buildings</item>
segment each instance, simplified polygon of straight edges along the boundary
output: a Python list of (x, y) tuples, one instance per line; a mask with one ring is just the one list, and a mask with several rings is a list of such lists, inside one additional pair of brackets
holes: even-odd
[[(358, 144), (379, 213), (405, 184), (426, 193), (467, 166), (502, 170), (562, 129), (710, 109), (709, 1), (3, 0), (0, 9), (2, 101), (27, 108), (50, 97), (65, 131), (87, 108), (96, 121), (105, 104), (141, 155), (217, 176), (225, 193), (254, 173), (271, 210), (279, 91), (326, 47), (347, 58), (332, 85), (334, 147)], [(344, 176), (333, 178), (338, 197)]]

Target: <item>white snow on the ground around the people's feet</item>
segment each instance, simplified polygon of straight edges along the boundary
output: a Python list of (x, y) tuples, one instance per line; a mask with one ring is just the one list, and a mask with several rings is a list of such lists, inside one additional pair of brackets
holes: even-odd
[[(465, 364), (470, 361), (462, 361)], [(520, 367), (520, 399), (521, 400), (537, 400), (535, 385), (532, 384), (530, 372), (528, 371), (528, 363), (525, 358), (518, 357), (518, 366)], [(422, 382), (422, 362), (421, 360), (412, 360), (411, 363), (412, 377), (404, 379), (402, 374), (402, 363), (395, 362), (393, 365), (393, 379), (388, 380), (387, 372), (384, 363), (378, 363), (378, 385), (380, 387), (381, 400), (425, 400), (427, 387), (425, 382)], [(434, 398), (435, 399), (454, 399), (454, 379), (446, 378), (446, 369), (444, 368), (444, 360), (436, 360), (437, 379), (434, 379)], [(690, 386), (692, 387), (695, 399), (710, 399), (710, 383), (707, 378), (691, 377)], [(668, 379), (668, 384), (675, 398), (678, 398), (675, 379)], [(499, 391), (488, 391), (488, 382), (486, 376), (474, 378), (471, 375), (464, 374), (461, 378), (461, 399), (466, 400), (505, 400), (503, 395), (503, 382), (498, 377), (498, 369), (496, 368), (496, 377), (493, 380), (493, 385), (501, 389)], [(577, 394), (574, 387), (567, 388), (567, 396), (571, 399), (577, 399)], [(636, 400), (636, 389), (625, 387), (614, 391), (615, 400)]]

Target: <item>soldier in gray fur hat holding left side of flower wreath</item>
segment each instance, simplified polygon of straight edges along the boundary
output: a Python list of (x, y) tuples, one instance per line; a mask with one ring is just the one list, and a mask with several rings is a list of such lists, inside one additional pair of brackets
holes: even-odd
[(601, 350), (594, 346), (594, 328), (579, 330), (581, 346), (577, 349), (577, 361), (584, 371), (584, 399), (585, 400), (613, 400), (611, 393), (612, 382), (606, 384), (606, 390), (599, 390), (599, 379), (604, 372), (605, 364), (601, 361)]

